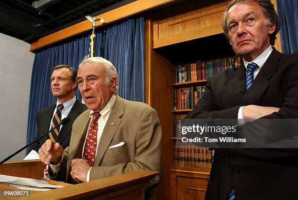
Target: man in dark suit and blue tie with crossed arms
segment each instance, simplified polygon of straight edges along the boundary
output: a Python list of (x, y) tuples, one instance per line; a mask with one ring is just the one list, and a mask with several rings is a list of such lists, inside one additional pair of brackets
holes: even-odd
[[(271, 46), (279, 27), (270, 0), (233, 0), (224, 12), (223, 29), (244, 66), (210, 77), (186, 118), (238, 119), (242, 129), (260, 118), (297, 119), (298, 54), (283, 55)], [(215, 152), (206, 200), (298, 198), (297, 149)]]

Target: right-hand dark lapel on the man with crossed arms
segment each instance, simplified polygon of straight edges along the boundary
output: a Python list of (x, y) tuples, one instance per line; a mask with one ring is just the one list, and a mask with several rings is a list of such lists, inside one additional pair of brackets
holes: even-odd
[(243, 96), (242, 105), (260, 104), (262, 94), (269, 87), (268, 80), (276, 73), (280, 55), (281, 54), (273, 48), (272, 53), (267, 58), (250, 89)]

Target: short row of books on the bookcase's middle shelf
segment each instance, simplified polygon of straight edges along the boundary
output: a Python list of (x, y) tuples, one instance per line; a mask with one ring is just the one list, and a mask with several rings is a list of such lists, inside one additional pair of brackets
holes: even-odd
[(193, 109), (205, 92), (205, 86), (174, 88), (173, 109)]

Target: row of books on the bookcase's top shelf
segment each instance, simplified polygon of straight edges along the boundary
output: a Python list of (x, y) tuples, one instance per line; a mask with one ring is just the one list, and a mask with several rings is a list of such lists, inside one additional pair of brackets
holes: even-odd
[(218, 58), (202, 62), (201, 60), (192, 64), (177, 65), (177, 83), (184, 83), (189, 81), (205, 80), (208, 77), (219, 73), (223, 70), (237, 68), (241, 64), (240, 56), (234, 55), (232, 57)]

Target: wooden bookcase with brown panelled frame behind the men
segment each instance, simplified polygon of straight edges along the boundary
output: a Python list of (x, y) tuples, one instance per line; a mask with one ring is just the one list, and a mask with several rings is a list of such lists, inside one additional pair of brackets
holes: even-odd
[[(157, 199), (203, 200), (210, 169), (174, 164), (173, 120), (190, 109), (173, 110), (173, 88), (205, 85), (204, 81), (175, 83), (178, 64), (235, 55), (221, 26), (229, 0), (184, 0), (146, 13), (146, 103), (157, 110), (162, 125), (163, 172)], [(276, 4), (276, 0), (273, 0)], [(275, 48), (281, 51), (277, 36)]]

